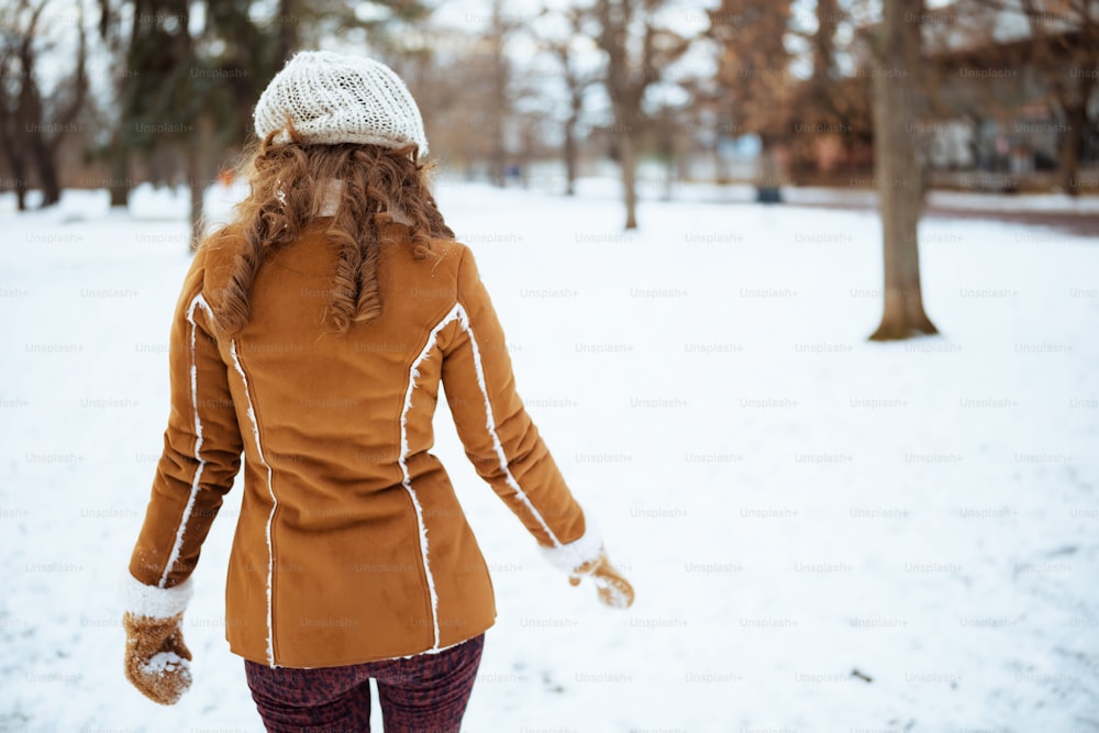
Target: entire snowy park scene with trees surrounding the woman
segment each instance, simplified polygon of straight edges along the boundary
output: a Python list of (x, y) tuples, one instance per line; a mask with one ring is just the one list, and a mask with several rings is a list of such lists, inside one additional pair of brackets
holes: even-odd
[(637, 589), (546, 567), (441, 400), (499, 607), (466, 730), (1099, 731), (1096, 0), (0, 3), (0, 731), (260, 730), (238, 490), (177, 707), (114, 588), (191, 251), (313, 48), (412, 90)]

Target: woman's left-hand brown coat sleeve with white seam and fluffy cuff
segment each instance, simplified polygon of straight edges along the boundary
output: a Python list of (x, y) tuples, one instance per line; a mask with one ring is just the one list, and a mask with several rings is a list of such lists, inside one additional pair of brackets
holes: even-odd
[(202, 542), (241, 465), (243, 443), (227, 367), (213, 336), (213, 314), (202, 297), (203, 260), (200, 249), (171, 324), (171, 409), (124, 589), (126, 610), (138, 614), (181, 610), (171, 599), (189, 593), (187, 580)]

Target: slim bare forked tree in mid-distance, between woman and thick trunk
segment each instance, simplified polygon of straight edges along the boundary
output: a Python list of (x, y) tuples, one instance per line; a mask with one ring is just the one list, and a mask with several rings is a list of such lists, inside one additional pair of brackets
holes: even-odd
[(597, 0), (596, 44), (607, 54), (603, 84), (614, 114), (625, 201), (625, 227), (637, 229), (637, 155), (645, 92), (690, 47), (691, 40), (657, 25), (665, 0)]

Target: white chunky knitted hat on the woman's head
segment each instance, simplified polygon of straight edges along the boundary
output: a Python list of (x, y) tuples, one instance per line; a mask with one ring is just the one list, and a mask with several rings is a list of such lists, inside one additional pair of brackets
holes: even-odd
[(391, 68), (362, 56), (303, 51), (275, 75), (253, 113), (260, 140), (275, 131), (290, 142), (288, 125), (307, 143), (359, 143), (428, 153), (423, 119), (408, 87)]

